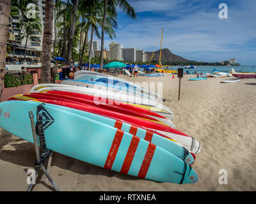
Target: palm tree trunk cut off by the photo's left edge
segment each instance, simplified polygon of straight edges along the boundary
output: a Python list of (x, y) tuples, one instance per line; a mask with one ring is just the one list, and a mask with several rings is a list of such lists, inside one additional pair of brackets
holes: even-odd
[(3, 91), (11, 0), (0, 1), (0, 98)]

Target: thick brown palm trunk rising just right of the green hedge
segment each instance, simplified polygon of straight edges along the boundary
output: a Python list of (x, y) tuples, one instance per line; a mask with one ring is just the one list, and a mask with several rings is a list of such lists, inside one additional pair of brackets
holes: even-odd
[(52, 20), (54, 0), (45, 1), (45, 24), (42, 45), (41, 83), (51, 83)]

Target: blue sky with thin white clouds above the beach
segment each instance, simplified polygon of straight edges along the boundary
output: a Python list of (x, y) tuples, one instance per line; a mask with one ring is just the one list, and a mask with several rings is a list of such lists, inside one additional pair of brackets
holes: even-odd
[[(241, 65), (256, 64), (255, 0), (127, 0), (138, 17), (118, 9), (116, 38), (105, 36), (104, 47), (115, 41), (124, 48), (145, 51), (162, 48), (189, 60), (220, 62), (236, 58)], [(221, 3), (227, 17), (220, 18)], [(96, 38), (94, 38), (97, 40)]]

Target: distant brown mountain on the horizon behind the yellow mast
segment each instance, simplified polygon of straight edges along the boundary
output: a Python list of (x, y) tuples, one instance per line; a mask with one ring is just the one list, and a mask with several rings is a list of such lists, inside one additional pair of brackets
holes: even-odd
[[(150, 61), (153, 52), (146, 52), (147, 53), (147, 61)], [(154, 56), (152, 61), (159, 62), (160, 50), (154, 52)], [(179, 55), (172, 54), (172, 52), (168, 48), (162, 49), (161, 52), (161, 62), (195, 62), (180, 57)]]

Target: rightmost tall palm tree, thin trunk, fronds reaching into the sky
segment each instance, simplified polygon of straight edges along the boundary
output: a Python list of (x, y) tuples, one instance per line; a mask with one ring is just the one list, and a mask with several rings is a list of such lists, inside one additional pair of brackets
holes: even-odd
[(134, 8), (127, 3), (126, 0), (104, 0), (104, 16), (103, 16), (103, 22), (102, 22), (102, 34), (101, 34), (101, 48), (100, 48), (100, 69), (102, 69), (103, 66), (103, 50), (104, 50), (104, 29), (106, 26), (106, 16), (108, 15), (108, 10), (115, 12), (116, 11), (116, 5), (118, 5), (124, 13), (130, 18), (136, 18), (136, 12), (134, 11)]

